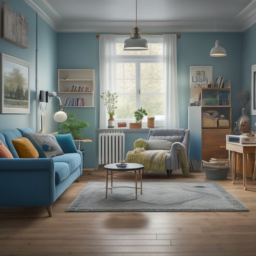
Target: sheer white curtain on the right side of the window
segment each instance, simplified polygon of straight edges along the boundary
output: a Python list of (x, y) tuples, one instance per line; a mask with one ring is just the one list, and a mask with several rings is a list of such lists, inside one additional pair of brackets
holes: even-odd
[(176, 42), (176, 34), (163, 35), (163, 65), (165, 83), (164, 126), (166, 128), (180, 128)]

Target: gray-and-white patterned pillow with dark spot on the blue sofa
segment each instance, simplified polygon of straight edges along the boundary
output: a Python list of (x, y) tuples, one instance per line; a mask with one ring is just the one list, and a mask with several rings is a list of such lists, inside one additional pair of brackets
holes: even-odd
[(34, 140), (40, 150), (43, 151), (46, 158), (53, 158), (63, 155), (60, 145), (52, 134), (36, 134), (28, 133), (30, 138)]

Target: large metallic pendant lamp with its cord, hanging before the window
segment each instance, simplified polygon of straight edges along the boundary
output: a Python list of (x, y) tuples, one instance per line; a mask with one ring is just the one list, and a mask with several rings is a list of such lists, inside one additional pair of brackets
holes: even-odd
[(140, 35), (140, 29), (137, 27), (137, 0), (136, 0), (136, 24), (131, 29), (131, 37), (124, 41), (123, 50), (147, 50), (146, 39)]

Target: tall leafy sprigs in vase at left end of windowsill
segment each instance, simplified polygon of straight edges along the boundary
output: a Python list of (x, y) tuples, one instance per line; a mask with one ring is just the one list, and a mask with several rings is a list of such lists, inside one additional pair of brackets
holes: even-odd
[(109, 114), (109, 120), (108, 120), (108, 128), (114, 128), (114, 114), (115, 110), (117, 109), (117, 98), (118, 95), (116, 92), (110, 93), (109, 90), (103, 92), (100, 95), (100, 98), (104, 100), (104, 105), (106, 107), (106, 110), (108, 111)]

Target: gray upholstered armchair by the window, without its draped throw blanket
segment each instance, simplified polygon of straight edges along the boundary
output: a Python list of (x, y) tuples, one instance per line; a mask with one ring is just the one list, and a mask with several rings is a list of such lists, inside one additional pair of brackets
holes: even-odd
[[(189, 141), (190, 131), (184, 129), (170, 129), (170, 128), (154, 128), (150, 129), (147, 141), (150, 140), (168, 140), (172, 142), (171, 152), (167, 153), (165, 160), (165, 169), (168, 177), (173, 170), (181, 169), (182, 162), (178, 157), (177, 150), (186, 150), (187, 159), (189, 159)], [(159, 148), (158, 148), (159, 149)]]

